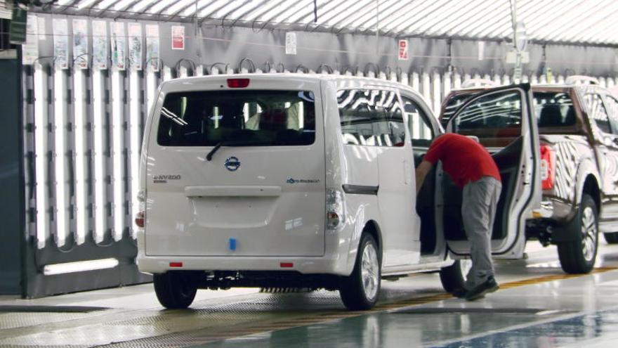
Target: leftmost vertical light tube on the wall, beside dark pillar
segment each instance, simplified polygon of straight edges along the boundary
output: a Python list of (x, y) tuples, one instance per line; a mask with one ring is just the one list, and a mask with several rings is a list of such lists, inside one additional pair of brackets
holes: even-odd
[(37, 247), (43, 249), (49, 236), (47, 209), (47, 79), (43, 67), (34, 64), (34, 171), (37, 180)]

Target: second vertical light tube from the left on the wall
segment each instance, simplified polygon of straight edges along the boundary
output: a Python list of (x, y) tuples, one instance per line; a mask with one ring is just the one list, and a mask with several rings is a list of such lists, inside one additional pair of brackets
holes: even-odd
[(55, 243), (59, 247), (65, 245), (69, 234), (69, 219), (67, 215), (67, 82), (65, 71), (55, 69), (53, 76), (53, 118), (54, 118), (54, 173), (55, 173)]

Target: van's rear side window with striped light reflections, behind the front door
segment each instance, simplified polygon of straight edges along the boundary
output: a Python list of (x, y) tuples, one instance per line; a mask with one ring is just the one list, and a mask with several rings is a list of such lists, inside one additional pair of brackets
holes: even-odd
[(343, 144), (404, 146), (405, 124), (395, 91), (342, 89), (337, 92)]

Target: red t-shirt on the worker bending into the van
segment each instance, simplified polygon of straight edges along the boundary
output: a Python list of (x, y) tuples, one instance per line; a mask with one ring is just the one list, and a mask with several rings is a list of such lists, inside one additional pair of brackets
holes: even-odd
[(500, 180), (496, 162), (487, 149), (467, 136), (448, 133), (438, 137), (431, 143), (423, 160), (432, 165), (438, 160), (442, 161), (442, 169), (460, 188), (468, 181), (477, 181), (482, 176), (493, 176)]

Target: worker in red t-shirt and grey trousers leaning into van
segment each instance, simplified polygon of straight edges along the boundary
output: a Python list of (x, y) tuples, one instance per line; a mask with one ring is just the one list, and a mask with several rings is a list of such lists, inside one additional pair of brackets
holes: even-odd
[(460, 134), (443, 134), (431, 143), (423, 161), (416, 168), (416, 193), (436, 162), (463, 189), (461, 217), (470, 243), (472, 268), (463, 289), (453, 295), (468, 301), (498, 290), (492, 263), (492, 229), (502, 188), (496, 163), (480, 143)]

